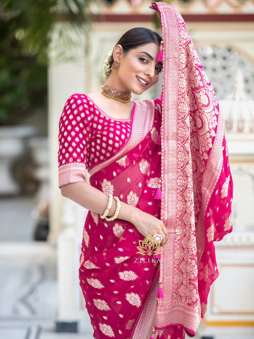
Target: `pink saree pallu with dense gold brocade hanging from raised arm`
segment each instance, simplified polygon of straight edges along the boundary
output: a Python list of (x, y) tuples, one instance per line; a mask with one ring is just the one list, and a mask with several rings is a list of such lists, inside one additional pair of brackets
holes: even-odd
[[(148, 298), (133, 339), (193, 337), (218, 277), (214, 241), (232, 232), (233, 182), (219, 104), (197, 56), (186, 24), (164, 2), (161, 220), (169, 236), (160, 280), (164, 298)], [(166, 260), (163, 262), (163, 258)], [(168, 264), (169, 263), (169, 264)], [(143, 335), (145, 333), (145, 335)]]

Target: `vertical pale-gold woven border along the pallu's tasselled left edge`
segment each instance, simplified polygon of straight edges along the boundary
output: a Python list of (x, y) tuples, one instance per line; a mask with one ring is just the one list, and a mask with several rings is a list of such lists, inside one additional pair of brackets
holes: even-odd
[[(164, 9), (165, 8), (165, 9)], [(173, 8), (173, 7), (172, 7)], [(168, 245), (164, 246), (162, 255), (167, 258), (161, 265), (160, 278), (164, 282), (164, 299), (158, 299), (156, 310), (156, 327), (162, 328), (169, 325), (167, 319), (169, 313), (172, 313), (173, 281), (174, 281), (174, 246), (175, 246), (175, 227), (177, 217), (177, 150), (178, 150), (178, 115), (179, 115), (179, 25), (175, 15), (175, 10), (168, 10), (168, 5), (160, 3), (160, 13), (162, 22), (167, 22), (168, 26), (162, 26), (164, 43), (163, 61), (163, 100), (162, 100), (162, 201), (161, 201), (161, 220), (168, 231)], [(169, 36), (167, 37), (166, 29)], [(168, 39), (167, 39), (168, 38)], [(170, 73), (170, 76), (168, 74)], [(167, 155), (165, 159), (164, 155)], [(167, 270), (165, 270), (167, 264)], [(167, 272), (165, 276), (165, 271)], [(176, 313), (178, 322), (182, 318), (179, 311)], [(173, 320), (173, 316), (170, 316)], [(173, 323), (173, 321), (172, 321)]]

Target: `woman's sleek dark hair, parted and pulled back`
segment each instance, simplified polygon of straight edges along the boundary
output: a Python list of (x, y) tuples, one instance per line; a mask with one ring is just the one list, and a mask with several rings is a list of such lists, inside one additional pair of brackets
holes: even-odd
[[(121, 45), (123, 47), (123, 52), (127, 53), (133, 48), (137, 48), (150, 42), (157, 43), (158, 46), (160, 46), (161, 41), (162, 37), (157, 32), (145, 27), (135, 27), (125, 32), (115, 44), (115, 46)], [(112, 66), (113, 62), (114, 59), (112, 55), (109, 59), (110, 67)], [(109, 70), (109, 74), (110, 73), (111, 70)]]

